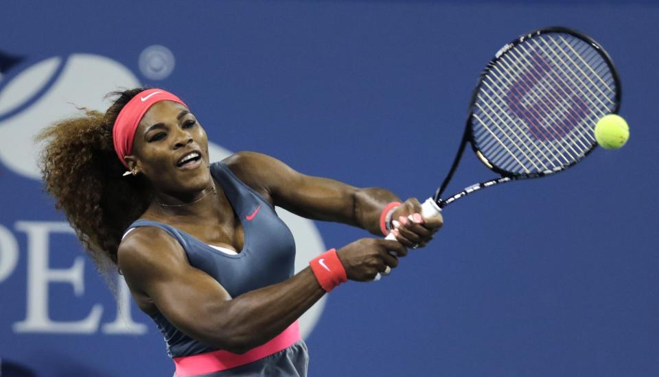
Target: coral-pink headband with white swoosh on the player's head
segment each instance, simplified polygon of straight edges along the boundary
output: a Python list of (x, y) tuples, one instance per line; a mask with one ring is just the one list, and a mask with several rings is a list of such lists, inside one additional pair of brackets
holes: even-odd
[(160, 101), (178, 102), (178, 104), (187, 108), (185, 102), (167, 92), (167, 90), (147, 89), (132, 97), (128, 104), (122, 108), (122, 111), (119, 112), (112, 129), (112, 138), (115, 144), (115, 152), (125, 167), (128, 167), (128, 165), (124, 160), (124, 156), (129, 156), (132, 153), (132, 141), (135, 140), (135, 131), (139, 121), (142, 120), (142, 117), (151, 106)]

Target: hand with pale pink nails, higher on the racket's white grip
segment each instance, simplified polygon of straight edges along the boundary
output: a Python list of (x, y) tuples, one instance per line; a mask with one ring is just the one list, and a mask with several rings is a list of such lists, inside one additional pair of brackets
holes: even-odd
[(391, 220), (394, 224), (391, 232), (397, 241), (413, 249), (426, 246), (444, 223), (441, 213), (428, 219), (421, 217), (421, 203), (415, 197), (398, 206)]

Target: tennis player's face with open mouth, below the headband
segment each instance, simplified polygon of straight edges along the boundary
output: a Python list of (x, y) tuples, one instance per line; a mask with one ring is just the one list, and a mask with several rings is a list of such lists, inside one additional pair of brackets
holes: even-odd
[(192, 112), (172, 101), (157, 102), (144, 114), (126, 162), (154, 189), (172, 195), (201, 191), (211, 182), (206, 132)]

